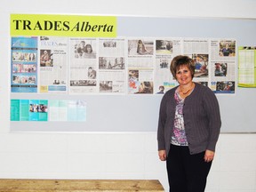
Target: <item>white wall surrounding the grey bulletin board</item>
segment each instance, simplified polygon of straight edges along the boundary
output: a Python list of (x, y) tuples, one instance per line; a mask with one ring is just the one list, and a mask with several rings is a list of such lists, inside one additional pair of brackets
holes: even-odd
[[(0, 178), (156, 179), (167, 189), (156, 132), (9, 132), (10, 13), (256, 18), (256, 1), (44, 0), (0, 7)], [(223, 119), (225, 121), (225, 119)], [(256, 191), (256, 134), (220, 134), (208, 192)]]

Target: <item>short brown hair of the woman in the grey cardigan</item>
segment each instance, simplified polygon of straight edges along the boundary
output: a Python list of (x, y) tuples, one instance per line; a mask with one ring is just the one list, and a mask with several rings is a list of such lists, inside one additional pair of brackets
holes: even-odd
[(176, 72), (181, 66), (187, 66), (191, 72), (192, 78), (195, 74), (195, 61), (186, 55), (178, 55), (172, 59), (170, 70), (172, 76), (176, 79)]

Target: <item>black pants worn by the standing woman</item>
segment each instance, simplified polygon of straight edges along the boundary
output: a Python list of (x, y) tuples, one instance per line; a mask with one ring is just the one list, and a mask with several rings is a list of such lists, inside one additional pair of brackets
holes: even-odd
[(212, 162), (204, 162), (204, 152), (190, 155), (188, 147), (171, 144), (166, 161), (170, 192), (204, 192)]

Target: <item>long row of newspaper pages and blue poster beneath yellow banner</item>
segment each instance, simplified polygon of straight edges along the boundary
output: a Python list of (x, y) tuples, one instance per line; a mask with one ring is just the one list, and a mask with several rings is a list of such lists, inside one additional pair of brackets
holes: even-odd
[(184, 54), (195, 60), (195, 82), (235, 93), (219, 92), (225, 82), (236, 87), (233, 39), (41, 36), (12, 42), (12, 92), (163, 94), (178, 85), (170, 64)]

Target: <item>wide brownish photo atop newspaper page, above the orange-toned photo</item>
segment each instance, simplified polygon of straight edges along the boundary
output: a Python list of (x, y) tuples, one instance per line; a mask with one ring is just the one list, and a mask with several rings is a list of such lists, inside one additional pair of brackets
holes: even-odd
[(146, 40), (128, 40), (128, 55), (153, 55), (154, 42)]

